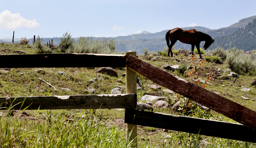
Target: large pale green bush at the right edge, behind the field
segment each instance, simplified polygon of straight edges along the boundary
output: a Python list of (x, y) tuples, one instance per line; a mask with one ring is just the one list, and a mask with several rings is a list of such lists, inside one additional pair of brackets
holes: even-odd
[(254, 54), (244, 54), (244, 51), (237, 48), (227, 50), (227, 63), (229, 68), (237, 73), (248, 73), (256, 68)]

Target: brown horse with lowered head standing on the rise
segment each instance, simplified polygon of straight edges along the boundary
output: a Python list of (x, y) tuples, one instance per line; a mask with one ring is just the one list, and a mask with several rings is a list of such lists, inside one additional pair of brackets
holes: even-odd
[[(171, 44), (169, 45), (169, 40), (171, 40)], [(208, 34), (205, 34), (203, 32), (197, 31), (195, 29), (191, 30), (183, 30), (181, 28), (174, 28), (172, 30), (167, 31), (166, 33), (166, 42), (167, 46), (169, 47), (168, 56), (171, 56), (172, 54), (172, 46), (179, 40), (182, 43), (185, 44), (191, 44), (191, 51), (194, 55), (194, 48), (196, 46), (198, 53), (200, 55), (200, 58), (202, 59), (201, 52), (200, 52), (200, 42), (205, 41), (204, 43), (204, 50), (206, 50), (213, 42), (212, 37), (210, 37)]]

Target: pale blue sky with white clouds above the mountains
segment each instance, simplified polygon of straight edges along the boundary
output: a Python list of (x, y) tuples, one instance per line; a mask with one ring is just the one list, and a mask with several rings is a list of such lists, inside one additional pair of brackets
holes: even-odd
[(228, 27), (256, 0), (0, 0), (0, 37), (117, 37), (176, 27)]

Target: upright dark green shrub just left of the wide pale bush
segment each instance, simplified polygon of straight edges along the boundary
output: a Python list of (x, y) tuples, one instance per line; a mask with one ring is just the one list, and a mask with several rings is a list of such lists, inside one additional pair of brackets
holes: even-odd
[(74, 39), (71, 39), (72, 35), (68, 34), (63, 34), (63, 37), (61, 38), (61, 41), (59, 43), (59, 46), (61, 48), (61, 52), (65, 53), (69, 48), (73, 48), (74, 46)]

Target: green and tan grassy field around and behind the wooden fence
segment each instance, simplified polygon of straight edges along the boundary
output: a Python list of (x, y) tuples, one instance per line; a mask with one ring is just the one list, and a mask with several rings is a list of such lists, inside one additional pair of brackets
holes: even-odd
[[(15, 51), (22, 50), (27, 54), (35, 54), (32, 45), (0, 44), (0, 54), (17, 54)], [(175, 54), (175, 57), (160, 56), (152, 60), (154, 56), (140, 55), (138, 58), (160, 67), (163, 65), (180, 65), (187, 67), (192, 65), (191, 57), (183, 54)], [(12, 59), (10, 59), (12, 60)], [(6, 61), (8, 62), (8, 61)], [(18, 62), (18, 61), (17, 61)], [(32, 61), (33, 62), (33, 61)], [(61, 61), (60, 61), (61, 62)], [(199, 64), (199, 59), (195, 60)], [(256, 111), (256, 102), (253, 101), (256, 94), (255, 86), (250, 84), (255, 74), (243, 74), (232, 87), (233, 78), (223, 72), (228, 68), (226, 61), (222, 64), (204, 62), (200, 78), (206, 80), (207, 74), (212, 74), (212, 85), (206, 89), (217, 92), (227, 99), (233, 100), (247, 108)], [(222, 68), (222, 73), (218, 73)], [(125, 87), (125, 68), (114, 68), (118, 77), (111, 77), (105, 74), (96, 73), (99, 68), (42, 68), (45, 73), (38, 73), (38, 68), (2, 68), (0, 70), (0, 97), (21, 97), (21, 96), (61, 96), (61, 95), (83, 95), (94, 94), (90, 89), (95, 89), (95, 94), (111, 94), (115, 85)], [(67, 75), (56, 74), (63, 71)], [(183, 79), (187, 77), (180, 71), (170, 71)], [(221, 76), (221, 77), (220, 77)], [(73, 77), (72, 79), (70, 77)], [(97, 82), (90, 81), (93, 78), (100, 78)], [(41, 78), (47, 83), (39, 80)], [(162, 92), (164, 97), (175, 98), (176, 94), (163, 92), (163, 89), (153, 90), (154, 84), (142, 76), (137, 76), (142, 85), (137, 97), (143, 97), (148, 92)], [(223, 86), (224, 85), (224, 86)], [(230, 89), (227, 91), (227, 89)], [(62, 88), (69, 88), (67, 91)], [(250, 88), (250, 91), (241, 91), (241, 88)], [(125, 88), (121, 88), (125, 94)], [(225, 93), (227, 91), (227, 93)], [(200, 92), (196, 92), (200, 93)], [(243, 100), (241, 96), (250, 98)], [(170, 102), (172, 106), (174, 102)], [(195, 111), (199, 114), (201, 109)], [(87, 109), (87, 110), (38, 110), (38, 111), (9, 111), (1, 110), (0, 115), (0, 147), (1, 148), (129, 148), (132, 142), (126, 139), (124, 113), (122, 109)], [(171, 109), (163, 110), (154, 108), (154, 112), (184, 114)], [(195, 114), (194, 114), (195, 115)], [(209, 115), (209, 116), (208, 116)], [(192, 115), (191, 115), (192, 116)], [(215, 111), (210, 111), (202, 116), (203, 118), (235, 122)], [(189, 124), (189, 123), (188, 123)], [(209, 127), (210, 128), (210, 127)], [(167, 138), (164, 138), (166, 137)], [(150, 128), (138, 125), (138, 147), (139, 148), (198, 148), (207, 145), (207, 148), (253, 148), (254, 143), (241, 142), (230, 139), (207, 137), (197, 134), (189, 134), (177, 131), (163, 131), (159, 128)]]

